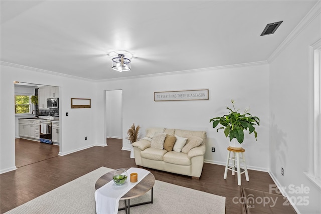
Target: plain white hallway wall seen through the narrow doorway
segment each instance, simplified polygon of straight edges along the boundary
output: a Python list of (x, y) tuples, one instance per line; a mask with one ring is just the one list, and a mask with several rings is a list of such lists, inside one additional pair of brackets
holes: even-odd
[(122, 91), (106, 91), (107, 138), (122, 138)]

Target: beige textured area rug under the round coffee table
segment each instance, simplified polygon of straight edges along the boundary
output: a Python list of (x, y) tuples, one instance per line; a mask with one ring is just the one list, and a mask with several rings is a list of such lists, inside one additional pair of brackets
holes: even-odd
[[(100, 167), (6, 214), (95, 213), (95, 183), (100, 176), (112, 170)], [(148, 201), (150, 194), (151, 191), (131, 199), (130, 204)], [(119, 207), (123, 207), (123, 201), (119, 203)], [(225, 213), (225, 197), (155, 180), (153, 203), (131, 207), (130, 213)]]

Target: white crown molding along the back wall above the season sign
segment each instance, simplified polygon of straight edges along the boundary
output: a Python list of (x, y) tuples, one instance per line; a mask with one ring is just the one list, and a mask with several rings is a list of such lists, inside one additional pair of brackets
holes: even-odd
[(259, 61), (259, 62), (242, 63), (242, 64), (235, 64), (235, 65), (209, 67), (209, 68), (198, 68), (198, 69), (183, 70), (183, 71), (173, 71), (173, 72), (165, 72), (165, 73), (157, 73), (157, 74), (146, 74), (146, 75), (139, 75), (139, 76), (132, 76), (132, 77), (103, 79), (103, 80), (96, 80), (95, 82), (108, 82), (108, 81), (115, 81), (115, 80), (130, 80), (130, 79), (137, 79), (137, 78), (159, 77), (159, 76), (175, 75), (175, 74), (182, 74), (182, 73), (184, 73), (184, 74), (186, 74), (186, 73), (200, 73), (200, 72), (216, 71), (216, 70), (222, 70), (222, 69), (244, 68), (244, 67), (250, 67), (250, 66), (262, 66), (262, 65), (269, 65), (269, 63), (267, 61)]

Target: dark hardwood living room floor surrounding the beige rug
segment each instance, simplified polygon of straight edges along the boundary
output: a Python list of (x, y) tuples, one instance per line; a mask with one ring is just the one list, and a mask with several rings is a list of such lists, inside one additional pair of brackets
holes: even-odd
[[(28, 163), (28, 165), (19, 167), (15, 171), (1, 174), (1, 213), (101, 166), (113, 169), (137, 167), (134, 159), (129, 157), (130, 152), (121, 150), (121, 142), (121, 139), (109, 138), (107, 139), (108, 146), (105, 147), (94, 146), (65, 156), (57, 156), (58, 152), (54, 152), (56, 153), (54, 157), (48, 155), (48, 158), (44, 160), (39, 161), (38, 159), (32, 164)], [(21, 143), (25, 143), (25, 140), (19, 140), (16, 147), (17, 154), (32, 152), (28, 151), (32, 147), (21, 146)], [(58, 148), (58, 146), (56, 147)], [(19, 151), (20, 149), (24, 151)], [(42, 149), (39, 152), (42, 152)], [(24, 158), (29, 159), (30, 157), (17, 157), (17, 164), (26, 163), (27, 160), (25, 161)], [(241, 187), (237, 185), (237, 176), (232, 176), (230, 172), (227, 179), (223, 179), (224, 168), (221, 165), (205, 163), (199, 180), (184, 175), (146, 169), (151, 171), (157, 180), (225, 196), (226, 213), (240, 213), (241, 204), (233, 202), (233, 198), (237, 197), (234, 201), (238, 201)], [(248, 173), (249, 182), (245, 180), (245, 175), (242, 174), (242, 187), (269, 192), (269, 184), (274, 184), (274, 182), (267, 172), (248, 170)]]

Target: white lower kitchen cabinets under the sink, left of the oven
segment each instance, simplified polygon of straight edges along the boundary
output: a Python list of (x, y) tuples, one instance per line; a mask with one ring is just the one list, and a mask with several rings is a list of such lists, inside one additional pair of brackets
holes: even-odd
[(33, 119), (19, 119), (19, 136), (39, 140), (40, 122)]

